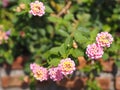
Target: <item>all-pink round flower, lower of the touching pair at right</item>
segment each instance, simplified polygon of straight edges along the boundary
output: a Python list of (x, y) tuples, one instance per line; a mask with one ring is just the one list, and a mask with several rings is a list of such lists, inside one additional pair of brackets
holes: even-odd
[(86, 54), (91, 59), (99, 59), (102, 57), (103, 53), (103, 48), (98, 44), (93, 43), (87, 46)]

